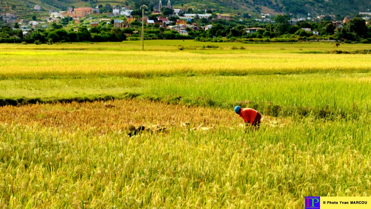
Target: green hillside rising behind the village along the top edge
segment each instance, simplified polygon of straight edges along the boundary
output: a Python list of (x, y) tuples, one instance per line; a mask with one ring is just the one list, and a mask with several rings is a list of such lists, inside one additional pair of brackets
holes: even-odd
[[(166, 4), (167, 0), (162, 0)], [(96, 6), (99, 4), (122, 5), (135, 9), (139, 4), (154, 6), (158, 0), (0, 0), (0, 13), (10, 12), (19, 16), (47, 15), (48, 10), (65, 10), (66, 7)], [(171, 0), (174, 8), (178, 9), (213, 9), (217, 12), (230, 12), (233, 14), (249, 13), (286, 13), (293, 16), (306, 16), (307, 13), (315, 15), (352, 15), (366, 12), (371, 9), (369, 0)], [(32, 10), (39, 4), (42, 11)], [(183, 7), (182, 7), (183, 5)]]

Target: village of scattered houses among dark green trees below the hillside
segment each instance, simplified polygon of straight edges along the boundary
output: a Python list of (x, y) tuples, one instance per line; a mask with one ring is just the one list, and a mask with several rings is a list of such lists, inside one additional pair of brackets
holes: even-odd
[[(107, 9), (109, 8), (109, 9)], [(35, 5), (33, 10), (42, 10), (40, 5)], [(142, 17), (143, 15), (143, 17)], [(365, 25), (369, 25), (371, 13), (359, 12), (357, 18), (362, 18)], [(283, 19), (282, 19), (283, 17)], [(349, 21), (354, 19), (351, 16), (335, 16), (335, 15), (318, 15), (312, 17), (308, 13), (307, 17), (290, 17), (285, 15), (271, 16), (269, 13), (260, 13), (256, 18), (232, 15), (231, 13), (217, 13), (213, 9), (194, 10), (175, 9), (168, 0), (166, 4), (158, 1), (158, 5), (152, 8), (152, 11), (146, 10), (141, 13), (141, 10), (132, 10), (128, 6), (112, 6), (109, 4), (98, 5), (96, 7), (67, 7), (66, 10), (49, 10), (49, 15), (44, 17), (33, 16), (32, 20), (20, 19), (16, 14), (1, 14), (3, 24), (13, 29), (21, 29), (22, 35), (30, 35), (33, 31), (39, 30), (43, 32), (48, 29), (51, 30), (55, 24), (59, 24), (55, 29), (61, 27), (68, 27), (69, 30), (78, 32), (79, 28), (85, 27), (91, 30), (94, 27), (118, 28), (120, 30), (130, 28), (123, 32), (125, 37), (129, 40), (138, 40), (139, 28), (142, 24), (147, 30), (157, 29), (162, 32), (173, 31), (178, 35), (164, 36), (155, 33), (150, 36), (145, 36), (146, 39), (194, 39), (213, 41), (215, 38), (285, 38), (292, 41), (293, 38), (298, 40), (347, 40), (356, 41), (355, 36), (338, 35), (335, 34), (339, 29), (344, 29)], [(53, 25), (54, 24), (54, 25)], [(217, 31), (207, 32), (213, 26), (222, 26)], [(324, 24), (324, 25), (323, 25)], [(332, 24), (332, 25), (331, 25)], [(284, 25), (283, 27), (278, 27)], [(331, 26), (330, 26), (331, 25)], [(367, 26), (366, 26), (367, 27)], [(237, 32), (236, 32), (237, 30)], [(96, 33), (97, 30), (93, 30)], [(128, 32), (129, 31), (129, 32)], [(207, 32), (207, 33), (206, 33)], [(150, 33), (154, 33), (151, 31)], [(344, 31), (342, 30), (342, 33)], [(47, 34), (46, 34), (47, 35)], [(179, 36), (181, 35), (181, 36)], [(132, 38), (129, 38), (133, 36)], [(183, 36), (183, 38), (181, 38)], [(122, 36), (123, 37), (123, 36)], [(304, 37), (304, 38), (301, 38)], [(310, 37), (310, 38), (309, 38)], [(120, 38), (125, 40), (126, 38)], [(210, 39), (211, 38), (211, 39)], [(56, 41), (68, 41), (68, 39), (55, 39)], [(75, 40), (75, 39), (73, 39)], [(77, 40), (77, 39), (76, 39)], [(93, 40), (93, 39), (91, 39)], [(108, 40), (108, 39), (104, 39)], [(368, 39), (362, 39), (367, 42)], [(85, 40), (89, 41), (89, 40)], [(259, 40), (261, 41), (261, 40)]]

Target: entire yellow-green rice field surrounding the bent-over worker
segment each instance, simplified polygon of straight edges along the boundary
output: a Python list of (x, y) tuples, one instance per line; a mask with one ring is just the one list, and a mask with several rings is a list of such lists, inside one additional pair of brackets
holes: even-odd
[[(302, 208), (305, 196), (371, 195), (369, 54), (146, 43), (0, 45), (0, 208)], [(263, 113), (259, 131), (236, 104)]]

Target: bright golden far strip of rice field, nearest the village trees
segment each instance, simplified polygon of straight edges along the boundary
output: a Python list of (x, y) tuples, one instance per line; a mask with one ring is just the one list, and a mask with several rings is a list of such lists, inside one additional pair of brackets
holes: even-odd
[[(163, 42), (164, 43), (164, 42)], [(220, 46), (215, 49), (201, 49), (202, 42), (178, 42), (198, 44), (198, 48), (180, 51), (159, 51), (154, 46), (148, 51), (124, 51), (128, 44), (111, 45), (83, 44), (75, 50), (55, 45), (0, 45), (0, 78), (14, 77), (55, 77), (55, 76), (125, 76), (148, 77), (177, 74), (274, 74), (274, 73), (315, 73), (315, 72), (368, 72), (371, 69), (367, 54), (322, 54), (334, 50), (331, 44), (239, 44), (244, 50), (232, 50), (226, 43), (210, 43)], [(91, 50), (89, 46), (92, 45)], [(95, 45), (101, 48), (94, 48)], [(185, 45), (185, 44), (183, 44)], [(181, 46), (183, 46), (181, 45)], [(236, 44), (233, 44), (236, 45)], [(178, 45), (180, 46), (180, 45)], [(270, 47), (275, 46), (275, 47)], [(280, 48), (278, 48), (279, 46)], [(161, 48), (166, 46), (161, 46)], [(187, 46), (188, 47), (188, 46)], [(190, 45), (190, 47), (195, 47)], [(104, 50), (108, 48), (108, 50)], [(128, 46), (129, 49), (133, 49)], [(62, 50), (63, 49), (63, 50)], [(83, 50), (79, 50), (83, 49)], [(95, 49), (95, 50), (93, 50)], [(336, 48), (338, 49), (338, 48)], [(358, 48), (371, 49), (368, 45)], [(300, 51), (301, 50), (301, 51)], [(339, 50), (354, 51), (354, 46), (342, 45)], [(321, 52), (321, 53), (320, 53)]]

